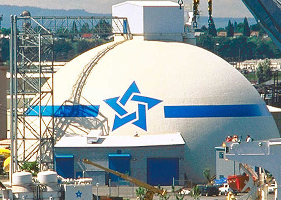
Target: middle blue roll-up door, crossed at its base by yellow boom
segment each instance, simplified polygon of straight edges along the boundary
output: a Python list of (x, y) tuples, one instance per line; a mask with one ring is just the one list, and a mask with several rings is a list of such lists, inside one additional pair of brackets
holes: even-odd
[[(130, 154), (109, 154), (108, 168), (123, 174), (130, 174), (130, 161)], [(113, 182), (118, 181), (118, 179), (124, 180), (114, 174), (109, 174), (109, 177)]]

